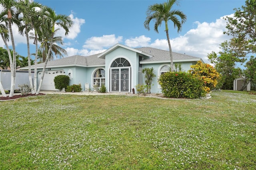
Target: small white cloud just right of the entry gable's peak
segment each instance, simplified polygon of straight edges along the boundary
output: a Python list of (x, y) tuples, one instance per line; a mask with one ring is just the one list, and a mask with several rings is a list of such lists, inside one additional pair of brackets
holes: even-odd
[(125, 45), (129, 47), (138, 47), (138, 46), (147, 47), (149, 45), (149, 42), (150, 42), (149, 37), (139, 36), (139, 37), (125, 40)]

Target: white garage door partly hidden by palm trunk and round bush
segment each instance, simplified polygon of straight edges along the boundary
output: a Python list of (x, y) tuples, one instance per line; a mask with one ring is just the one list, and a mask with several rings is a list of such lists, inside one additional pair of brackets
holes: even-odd
[[(65, 75), (65, 71), (64, 70), (45, 71), (41, 90), (57, 90), (55, 89), (55, 86), (54, 86), (54, 77), (57, 75)], [(41, 77), (42, 77), (42, 71), (38, 73), (38, 85), (40, 83)]]

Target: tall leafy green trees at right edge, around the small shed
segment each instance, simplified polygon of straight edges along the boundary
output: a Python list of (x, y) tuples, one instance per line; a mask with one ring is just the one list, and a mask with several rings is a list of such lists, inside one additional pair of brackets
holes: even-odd
[(224, 18), (227, 20), (224, 34), (232, 38), (220, 45), (221, 51), (208, 54), (208, 59), (221, 74), (218, 83), (221, 89), (233, 89), (234, 79), (244, 77), (244, 86), (240, 90), (244, 90), (249, 82), (251, 89), (256, 90), (255, 9), (256, 0), (246, 0), (244, 6), (234, 9), (234, 17)]

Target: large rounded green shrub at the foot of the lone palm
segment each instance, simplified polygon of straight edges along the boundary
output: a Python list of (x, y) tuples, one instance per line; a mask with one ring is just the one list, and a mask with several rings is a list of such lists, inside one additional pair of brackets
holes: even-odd
[(204, 83), (185, 72), (166, 72), (159, 78), (162, 93), (168, 98), (196, 99), (205, 96)]

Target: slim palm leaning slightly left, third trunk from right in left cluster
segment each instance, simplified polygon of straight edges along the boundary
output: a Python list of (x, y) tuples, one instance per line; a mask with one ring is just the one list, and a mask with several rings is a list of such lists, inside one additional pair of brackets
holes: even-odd
[(28, 77), (30, 82), (30, 89), (31, 93), (34, 94), (34, 87), (32, 82), (32, 74), (31, 74), (31, 59), (30, 59), (30, 44), (29, 44), (29, 36), (28, 32), (30, 30), (33, 30), (33, 24), (34, 24), (34, 16), (35, 16), (35, 8), (41, 8), (42, 5), (37, 2), (31, 2), (30, 0), (19, 0), (18, 1), (18, 12), (17, 12), (17, 18), (22, 13), (22, 18), (20, 18), (21, 21), (23, 21), (24, 24), (20, 25), (19, 30), (20, 34), (26, 35), (27, 40), (27, 49), (28, 49)]

